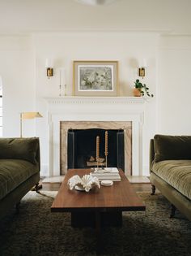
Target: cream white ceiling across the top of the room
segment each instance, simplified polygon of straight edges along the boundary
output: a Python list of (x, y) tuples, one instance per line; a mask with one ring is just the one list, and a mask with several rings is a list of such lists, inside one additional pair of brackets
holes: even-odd
[(191, 0), (0, 0), (0, 34), (128, 31), (191, 35)]

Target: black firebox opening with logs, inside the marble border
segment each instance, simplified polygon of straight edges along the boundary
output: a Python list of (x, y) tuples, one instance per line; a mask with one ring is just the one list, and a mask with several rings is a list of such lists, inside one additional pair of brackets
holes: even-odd
[(108, 131), (108, 167), (125, 170), (124, 130), (100, 128), (69, 129), (68, 168), (96, 167), (96, 137), (100, 137), (100, 167), (105, 167), (105, 132)]

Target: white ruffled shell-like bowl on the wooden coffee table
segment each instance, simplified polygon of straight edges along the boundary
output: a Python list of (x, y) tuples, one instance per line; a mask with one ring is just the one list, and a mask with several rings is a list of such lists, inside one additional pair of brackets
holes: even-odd
[(90, 189), (94, 187), (98, 187), (100, 189), (100, 181), (98, 180), (98, 178), (87, 174), (84, 175), (82, 178), (80, 178), (80, 176), (78, 175), (72, 176), (68, 180), (68, 184), (70, 186), (70, 190), (77, 189), (89, 192)]

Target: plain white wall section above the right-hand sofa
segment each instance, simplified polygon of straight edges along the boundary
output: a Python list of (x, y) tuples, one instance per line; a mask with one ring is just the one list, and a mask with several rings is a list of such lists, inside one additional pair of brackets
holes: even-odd
[(191, 133), (191, 37), (165, 36), (159, 41), (158, 132)]

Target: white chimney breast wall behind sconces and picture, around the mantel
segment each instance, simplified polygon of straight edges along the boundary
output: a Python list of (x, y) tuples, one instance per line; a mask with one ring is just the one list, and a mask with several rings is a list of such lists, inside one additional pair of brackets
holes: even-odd
[[(144, 82), (155, 94), (158, 36), (154, 33), (59, 33), (34, 37), (36, 50), (36, 109), (44, 115), (36, 126), (41, 140), (42, 172), (49, 173), (49, 129), (45, 98), (59, 96), (59, 71), (65, 69), (67, 95), (72, 94), (73, 60), (118, 60), (119, 96), (132, 96), (133, 80), (138, 78), (138, 61), (147, 61)], [(54, 76), (45, 74), (45, 59), (53, 59)], [(63, 82), (63, 83), (65, 83)], [(155, 98), (145, 103), (143, 127), (143, 169), (148, 175), (149, 140), (155, 133)], [(76, 113), (78, 115), (78, 113)]]

